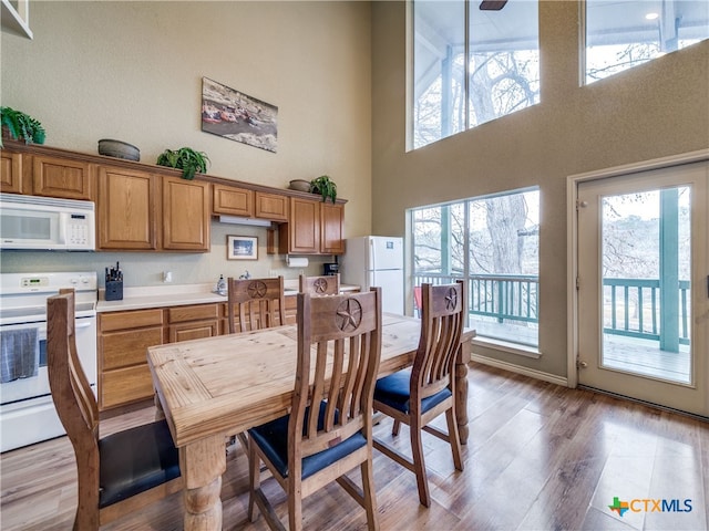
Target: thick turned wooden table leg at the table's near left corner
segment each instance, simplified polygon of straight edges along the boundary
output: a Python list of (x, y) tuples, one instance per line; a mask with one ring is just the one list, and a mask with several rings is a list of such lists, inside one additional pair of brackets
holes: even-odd
[(185, 531), (222, 530), (224, 436), (206, 437), (179, 448), (179, 468), (185, 482)]

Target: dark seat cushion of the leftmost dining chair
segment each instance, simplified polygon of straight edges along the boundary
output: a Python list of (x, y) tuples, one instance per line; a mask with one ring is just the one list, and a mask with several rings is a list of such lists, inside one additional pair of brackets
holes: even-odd
[(179, 477), (179, 454), (165, 420), (99, 440), (99, 507), (107, 507)]

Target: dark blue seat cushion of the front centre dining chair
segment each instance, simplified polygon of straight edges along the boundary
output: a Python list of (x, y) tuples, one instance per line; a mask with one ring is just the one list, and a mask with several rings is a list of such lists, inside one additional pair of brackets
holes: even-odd
[[(320, 413), (318, 415), (318, 430), (322, 429), (325, 417), (325, 402), (320, 403)], [(308, 424), (310, 408), (306, 410), (304, 426)], [(336, 414), (337, 417), (337, 414)], [(256, 428), (248, 430), (248, 435), (253, 438), (268, 460), (276, 467), (278, 473), (284, 478), (288, 477), (288, 421), (289, 415), (285, 415), (276, 420), (266, 423)], [(367, 446), (367, 438), (360, 433), (356, 433), (348, 439), (337, 444), (332, 448), (322, 450), (302, 458), (302, 479), (329, 467), (333, 462), (339, 461), (343, 457), (350, 455), (354, 450)]]

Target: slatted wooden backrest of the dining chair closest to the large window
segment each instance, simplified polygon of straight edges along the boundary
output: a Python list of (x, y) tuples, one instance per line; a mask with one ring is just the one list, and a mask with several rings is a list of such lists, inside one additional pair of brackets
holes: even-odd
[(419, 348), (413, 362), (411, 396), (421, 399), (452, 389), (454, 363), (465, 317), (465, 282), (421, 285)]

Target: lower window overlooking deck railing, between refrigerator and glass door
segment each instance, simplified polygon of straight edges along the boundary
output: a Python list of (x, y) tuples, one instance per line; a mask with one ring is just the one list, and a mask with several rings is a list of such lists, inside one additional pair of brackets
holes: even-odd
[(537, 188), (410, 210), (413, 285), (467, 279), (480, 337), (538, 346)]

